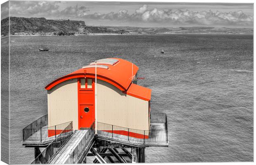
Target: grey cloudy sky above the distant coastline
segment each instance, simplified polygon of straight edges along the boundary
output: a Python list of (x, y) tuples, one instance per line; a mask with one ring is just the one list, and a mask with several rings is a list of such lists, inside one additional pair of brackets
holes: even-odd
[[(8, 15), (1, 8), (2, 19)], [(253, 28), (252, 3), (10, 1), (10, 16), (81, 20), (87, 26)]]

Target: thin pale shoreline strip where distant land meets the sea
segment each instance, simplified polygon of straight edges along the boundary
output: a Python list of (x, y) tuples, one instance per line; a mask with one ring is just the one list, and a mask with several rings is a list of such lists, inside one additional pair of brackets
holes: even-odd
[[(253, 33), (156, 33), (156, 34), (147, 34), (147, 33), (130, 33), (130, 34), (117, 34), (117, 33), (90, 33), (90, 34), (78, 34), (78, 35), (173, 35), (173, 34), (223, 34), (223, 35), (253, 35)], [(10, 37), (42, 37), (42, 36), (78, 36), (78, 35), (9, 35)], [(1, 38), (6, 38), (8, 36), (4, 36)]]

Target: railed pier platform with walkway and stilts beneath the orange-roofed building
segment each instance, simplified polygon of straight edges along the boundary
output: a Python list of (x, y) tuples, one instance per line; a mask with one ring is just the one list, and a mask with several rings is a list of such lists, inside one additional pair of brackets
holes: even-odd
[[(97, 129), (93, 123), (87, 129), (73, 130), (72, 124), (71, 121), (47, 127), (45, 115), (25, 127), (22, 144), (35, 148), (35, 160), (31, 164), (86, 163), (88, 157), (95, 158), (93, 163), (144, 163), (145, 148), (168, 146), (165, 113), (150, 114), (150, 130), (133, 130), (106, 123), (98, 123)], [(106, 127), (113, 130), (107, 132)], [(139, 136), (134, 136), (136, 132)], [(49, 133), (53, 136), (49, 137)], [(40, 148), (44, 148), (43, 151)]]

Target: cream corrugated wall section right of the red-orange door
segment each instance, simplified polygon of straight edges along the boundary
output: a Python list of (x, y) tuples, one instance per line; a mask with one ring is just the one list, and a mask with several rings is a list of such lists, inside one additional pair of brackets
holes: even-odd
[(126, 94), (97, 80), (97, 121), (138, 130), (149, 130), (148, 101)]

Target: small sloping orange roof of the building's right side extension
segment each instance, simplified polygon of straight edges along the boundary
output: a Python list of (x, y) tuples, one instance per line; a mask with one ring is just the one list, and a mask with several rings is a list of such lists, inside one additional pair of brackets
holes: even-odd
[(151, 99), (151, 89), (142, 87), (140, 85), (131, 84), (128, 90), (126, 91), (126, 94), (137, 97), (142, 100), (149, 101)]

